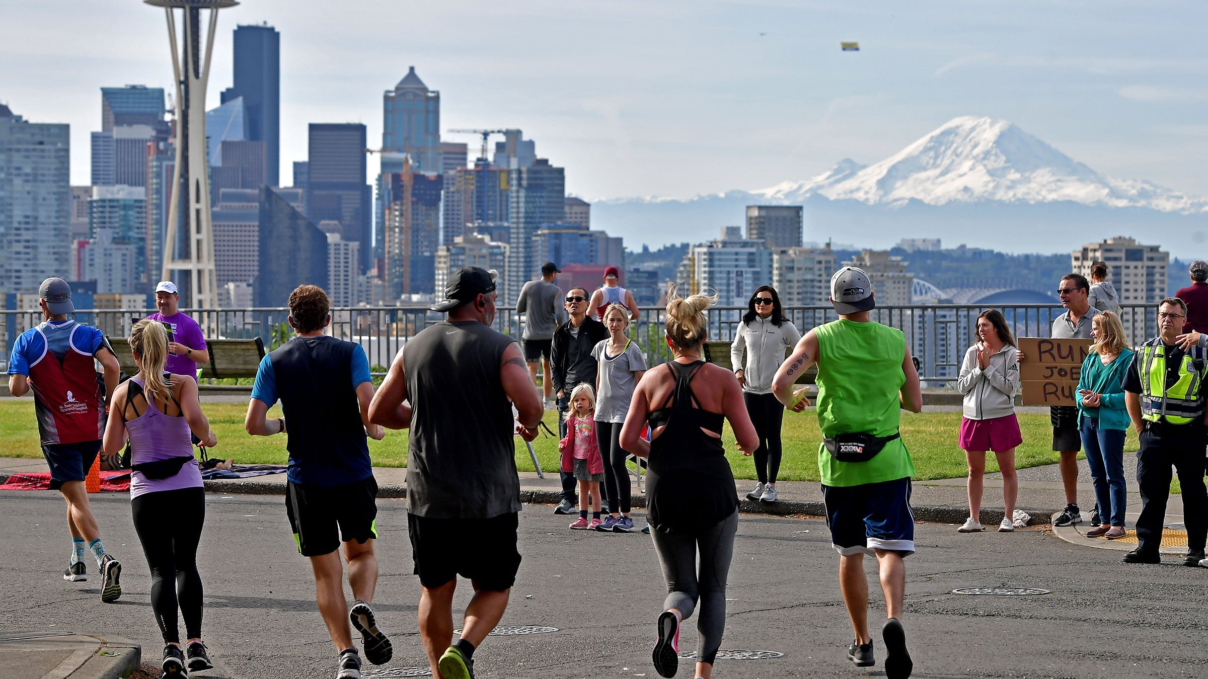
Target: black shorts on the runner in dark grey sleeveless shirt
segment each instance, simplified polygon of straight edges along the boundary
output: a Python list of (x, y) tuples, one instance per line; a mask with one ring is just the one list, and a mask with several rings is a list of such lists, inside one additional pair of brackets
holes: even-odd
[(420, 585), (432, 590), (460, 574), (480, 590), (510, 588), (521, 568), (518, 527), (518, 512), (492, 518), (426, 518), (407, 512), (411, 558)]

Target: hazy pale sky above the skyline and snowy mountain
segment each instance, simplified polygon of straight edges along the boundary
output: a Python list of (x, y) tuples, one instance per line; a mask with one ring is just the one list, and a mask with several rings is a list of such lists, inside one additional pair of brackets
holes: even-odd
[[(163, 10), (0, 4), (0, 101), (70, 123), (71, 181), (88, 184), (99, 88), (170, 88)], [(281, 33), (283, 182), (307, 123), (362, 122), (379, 146), (382, 93), (414, 65), (442, 129), (518, 127), (588, 199), (800, 180), (960, 115), (1208, 195), (1204, 2), (244, 0), (220, 12), (211, 105), (232, 30), (260, 22)]]

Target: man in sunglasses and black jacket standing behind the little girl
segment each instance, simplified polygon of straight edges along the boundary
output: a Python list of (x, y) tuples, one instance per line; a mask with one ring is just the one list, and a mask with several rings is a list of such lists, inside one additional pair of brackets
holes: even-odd
[[(565, 308), (570, 320), (553, 332), (553, 349), (550, 358), (550, 381), (558, 396), (558, 435), (567, 436), (567, 410), (570, 407), (570, 391), (580, 382), (596, 384), (598, 362), (592, 358), (592, 348), (608, 340), (608, 327), (587, 315), (587, 290), (571, 288), (567, 292)], [(562, 501), (554, 513), (575, 513), (575, 475), (562, 474)]]

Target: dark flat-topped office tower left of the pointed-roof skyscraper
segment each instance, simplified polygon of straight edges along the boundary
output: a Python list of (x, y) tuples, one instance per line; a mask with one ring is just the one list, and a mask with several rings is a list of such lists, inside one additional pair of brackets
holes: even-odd
[(344, 240), (365, 243), (361, 271), (371, 267), (373, 243), (370, 185), (366, 184), (365, 126), (310, 123), (307, 178), (307, 217), (343, 225)]

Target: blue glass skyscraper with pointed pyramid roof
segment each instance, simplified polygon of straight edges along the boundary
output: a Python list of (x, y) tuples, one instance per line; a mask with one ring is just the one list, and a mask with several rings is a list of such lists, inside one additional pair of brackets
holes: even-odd
[[(382, 95), (382, 151), (410, 153), (412, 172), (442, 174), (441, 93), (428, 89), (411, 66), (407, 75)], [(312, 162), (314, 157), (312, 156)]]

